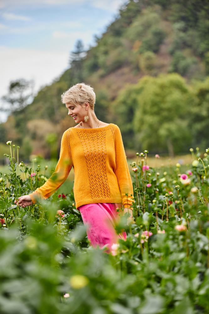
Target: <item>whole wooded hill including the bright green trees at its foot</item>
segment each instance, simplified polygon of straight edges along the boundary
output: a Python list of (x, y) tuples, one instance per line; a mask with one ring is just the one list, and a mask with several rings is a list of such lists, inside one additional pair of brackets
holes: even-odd
[(208, 34), (208, 0), (129, 1), (94, 47), (85, 53), (78, 42), (71, 67), (0, 125), (1, 142), (19, 143), (26, 159), (49, 157), (50, 145), (74, 126), (61, 94), (86, 82), (95, 89), (98, 118), (119, 125), (126, 149), (172, 155), (191, 144), (205, 147)]

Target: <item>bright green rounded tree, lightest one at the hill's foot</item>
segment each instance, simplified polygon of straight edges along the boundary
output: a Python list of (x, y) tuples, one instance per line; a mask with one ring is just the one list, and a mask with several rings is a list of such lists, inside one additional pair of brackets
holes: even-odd
[(189, 112), (192, 99), (185, 80), (178, 74), (146, 76), (138, 84), (134, 129), (142, 148), (167, 146), (169, 155), (190, 143)]

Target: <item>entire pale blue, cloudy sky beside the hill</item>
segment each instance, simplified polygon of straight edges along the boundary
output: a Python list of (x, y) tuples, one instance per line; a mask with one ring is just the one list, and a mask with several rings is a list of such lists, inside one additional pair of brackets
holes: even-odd
[[(124, 0), (0, 0), (0, 98), (11, 80), (33, 79), (34, 92), (69, 67), (80, 39), (88, 49)], [(0, 104), (2, 101), (0, 100)], [(7, 116), (0, 113), (0, 122)]]

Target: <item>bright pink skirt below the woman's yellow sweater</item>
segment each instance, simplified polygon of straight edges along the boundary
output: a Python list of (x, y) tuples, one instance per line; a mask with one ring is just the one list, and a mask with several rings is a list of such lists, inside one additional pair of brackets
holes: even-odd
[(115, 224), (120, 219), (116, 208), (121, 207), (117, 203), (93, 203), (80, 206), (78, 210), (83, 218), (84, 225), (87, 226), (87, 236), (90, 244), (95, 248), (108, 247), (108, 252), (118, 239), (126, 240), (126, 232), (117, 234)]

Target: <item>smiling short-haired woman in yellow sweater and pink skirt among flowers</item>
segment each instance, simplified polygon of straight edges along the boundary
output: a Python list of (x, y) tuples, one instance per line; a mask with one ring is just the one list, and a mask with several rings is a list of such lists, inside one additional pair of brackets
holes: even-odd
[[(126, 233), (117, 235), (116, 208), (132, 216), (131, 176), (126, 162), (121, 133), (115, 124), (97, 119), (95, 93), (87, 84), (76, 84), (62, 95), (68, 115), (78, 124), (62, 136), (60, 159), (46, 183), (29, 195), (19, 198), (22, 207), (50, 197), (67, 179), (73, 167), (76, 208), (88, 226), (92, 246), (110, 246)], [(125, 194), (128, 193), (128, 196)], [(128, 209), (130, 208), (130, 209)]]

